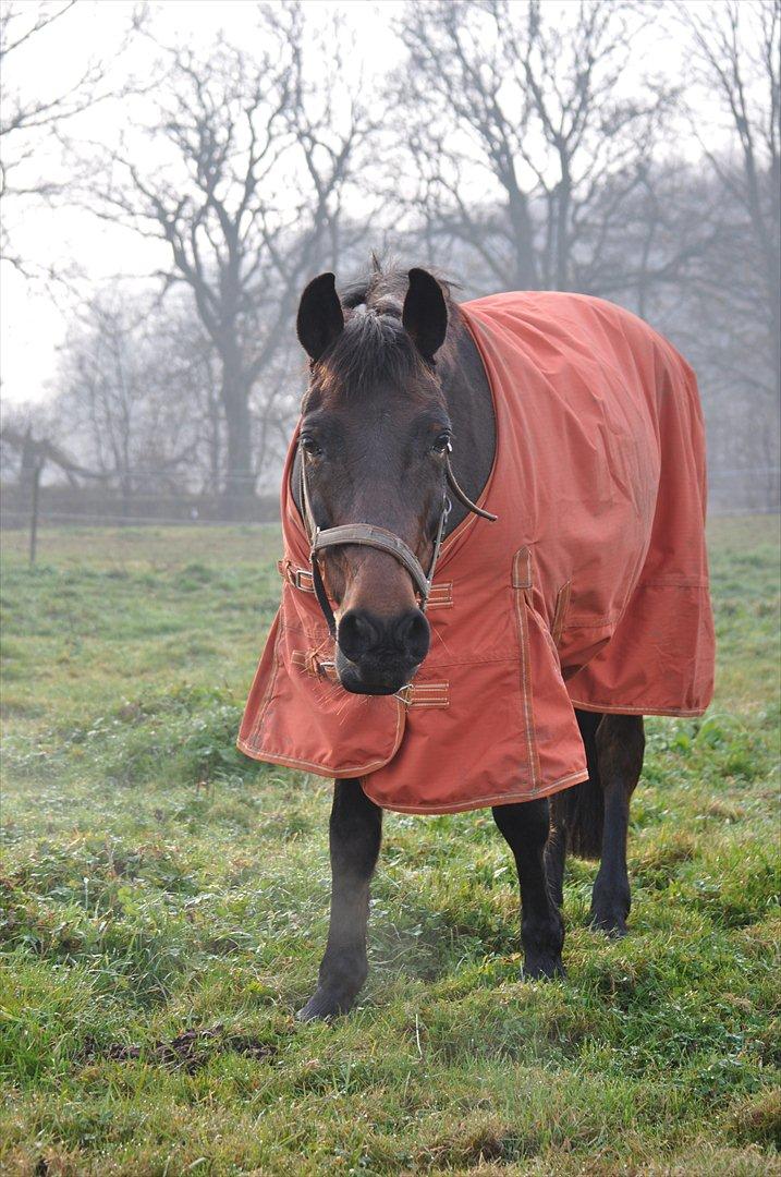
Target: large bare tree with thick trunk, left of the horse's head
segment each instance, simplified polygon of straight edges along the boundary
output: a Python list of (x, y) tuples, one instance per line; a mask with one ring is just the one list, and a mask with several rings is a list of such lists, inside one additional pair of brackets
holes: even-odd
[[(340, 247), (342, 199), (369, 129), (340, 88), (339, 39), (315, 92), (300, 6), (261, 6), (260, 19), (251, 52), (221, 41), (205, 59), (168, 53), (154, 125), (142, 146), (114, 155), (98, 208), (163, 241), (165, 281), (193, 293), (220, 363), (228, 506), (253, 493), (263, 454), (253, 454), (251, 394), (292, 338), (305, 278)], [(266, 408), (279, 393), (265, 388)]]

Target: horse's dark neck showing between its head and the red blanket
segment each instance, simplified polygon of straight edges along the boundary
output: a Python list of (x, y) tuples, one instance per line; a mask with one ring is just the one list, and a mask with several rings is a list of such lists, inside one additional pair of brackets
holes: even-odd
[[(469, 498), (476, 500), (494, 464), (494, 405), (480, 353), (458, 311), (450, 315), (449, 334), (439, 370), (453, 424), (453, 470)], [(454, 503), (448, 532), (466, 514), (466, 508)]]

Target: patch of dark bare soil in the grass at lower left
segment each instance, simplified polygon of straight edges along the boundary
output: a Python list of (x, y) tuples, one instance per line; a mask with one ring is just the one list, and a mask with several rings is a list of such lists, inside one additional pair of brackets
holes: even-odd
[(208, 1029), (185, 1030), (183, 1033), (169, 1042), (154, 1042), (145, 1045), (116, 1042), (108, 1046), (101, 1046), (94, 1038), (88, 1038), (80, 1052), (79, 1060), (94, 1063), (105, 1059), (127, 1063), (142, 1058), (149, 1063), (193, 1073), (205, 1066), (214, 1055), (227, 1053), (271, 1059), (279, 1053), (279, 1049), (252, 1035), (227, 1033), (222, 1025), (216, 1025)]

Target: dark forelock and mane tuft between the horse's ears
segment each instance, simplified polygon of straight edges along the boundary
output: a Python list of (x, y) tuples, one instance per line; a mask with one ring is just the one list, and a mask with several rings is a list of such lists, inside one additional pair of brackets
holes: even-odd
[[(436, 274), (450, 302), (450, 287)], [(342, 393), (376, 385), (409, 386), (423, 370), (421, 357), (401, 325), (401, 312), (409, 286), (408, 267), (383, 264), (374, 254), (367, 273), (340, 290), (345, 330), (318, 365), (316, 383), (327, 393)]]

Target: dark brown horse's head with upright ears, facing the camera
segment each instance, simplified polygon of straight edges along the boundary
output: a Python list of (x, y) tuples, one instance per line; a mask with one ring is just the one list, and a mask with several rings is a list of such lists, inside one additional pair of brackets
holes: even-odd
[[(336, 605), (339, 678), (358, 694), (394, 693), (428, 652), (421, 571), (425, 586), (447, 504), (450, 420), (435, 367), (447, 327), (442, 287), (423, 270), (399, 295), (342, 306), (334, 275), (321, 274), (301, 297), (298, 333), (312, 361), (302, 508), (311, 531), (325, 532), (315, 573)], [(381, 532), (358, 527), (353, 543), (331, 534), (355, 524)], [(389, 546), (369, 546), (372, 534)]]

